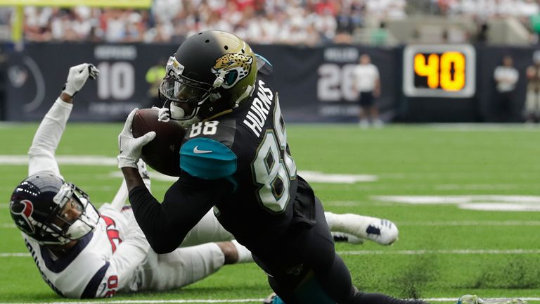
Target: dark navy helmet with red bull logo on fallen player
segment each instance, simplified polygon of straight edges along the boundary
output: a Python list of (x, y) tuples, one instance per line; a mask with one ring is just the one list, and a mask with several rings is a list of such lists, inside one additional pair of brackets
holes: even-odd
[[(94, 231), (98, 210), (88, 194), (51, 174), (27, 177), (11, 194), (9, 210), (15, 225), (41, 245), (62, 245)], [(72, 202), (81, 213), (68, 220), (61, 211)], [(55, 224), (56, 223), (56, 224)]]

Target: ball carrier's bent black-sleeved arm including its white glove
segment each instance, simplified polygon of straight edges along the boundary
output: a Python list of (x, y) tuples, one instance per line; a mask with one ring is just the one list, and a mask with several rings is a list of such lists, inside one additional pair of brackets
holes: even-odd
[(131, 125), (136, 110), (128, 115), (118, 136), (118, 167), (124, 174), (129, 202), (148, 243), (156, 253), (168, 253), (180, 245), (190, 229), (221, 196), (230, 193), (231, 184), (224, 179), (200, 179), (182, 172), (179, 180), (165, 194), (165, 201), (159, 203), (146, 189), (136, 169), (142, 147), (155, 137), (155, 132), (133, 137)]

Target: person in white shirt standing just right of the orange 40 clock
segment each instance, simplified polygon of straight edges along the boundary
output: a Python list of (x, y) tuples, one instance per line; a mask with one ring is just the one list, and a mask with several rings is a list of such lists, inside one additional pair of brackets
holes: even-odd
[(518, 83), (520, 77), (518, 70), (513, 66), (511, 56), (503, 57), (502, 65), (495, 68), (493, 77), (497, 91), (494, 109), (496, 121), (506, 122), (512, 117), (515, 84)]

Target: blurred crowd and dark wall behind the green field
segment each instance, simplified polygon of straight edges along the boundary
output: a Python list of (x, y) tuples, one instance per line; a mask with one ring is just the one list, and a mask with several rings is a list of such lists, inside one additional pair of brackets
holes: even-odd
[[(79, 62), (96, 64), (102, 75), (96, 90), (77, 96), (82, 106), (73, 119), (122, 120), (134, 106), (152, 104), (158, 67), (185, 37), (219, 29), (238, 34), (273, 63), (288, 122), (356, 121), (352, 70), (362, 53), (380, 70), (385, 122), (522, 122), (525, 70), (540, 32), (540, 6), (532, 0), (2, 4), (11, 5), (0, 8), (0, 119), (9, 121), (39, 120), (64, 71)], [(458, 56), (448, 59), (454, 68), (444, 70), (444, 54), (454, 52)], [(437, 64), (428, 64), (431, 54)], [(503, 56), (513, 57), (520, 78), (513, 101), (501, 109), (493, 75)]]

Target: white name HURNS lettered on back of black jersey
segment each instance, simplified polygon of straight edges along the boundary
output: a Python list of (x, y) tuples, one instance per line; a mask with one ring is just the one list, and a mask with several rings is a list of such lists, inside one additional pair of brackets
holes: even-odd
[(264, 87), (264, 82), (259, 80), (257, 97), (253, 99), (248, 115), (245, 116), (245, 120), (243, 121), (243, 124), (249, 127), (257, 137), (259, 137), (262, 132), (262, 127), (270, 112), (273, 99), (274, 93), (271, 89)]

